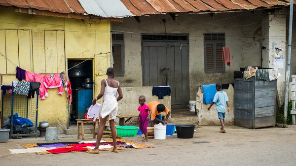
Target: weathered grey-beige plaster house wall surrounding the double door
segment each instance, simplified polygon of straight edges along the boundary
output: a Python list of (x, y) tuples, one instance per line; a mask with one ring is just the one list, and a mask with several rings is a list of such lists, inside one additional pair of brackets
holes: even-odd
[[(166, 20), (166, 27), (162, 19)], [(260, 66), (261, 13), (240, 12), (215, 15), (179, 14), (174, 22), (169, 15), (134, 18), (112, 23), (112, 30), (125, 32), (125, 77), (118, 77), (122, 87), (142, 86), (141, 33), (189, 33), (189, 84), (190, 100), (195, 100), (199, 85), (217, 82), (233, 83), (233, 71), (241, 66)], [(131, 32), (131, 33), (130, 33)], [(226, 46), (230, 47), (232, 66), (225, 73), (204, 72), (204, 33), (225, 33)]]

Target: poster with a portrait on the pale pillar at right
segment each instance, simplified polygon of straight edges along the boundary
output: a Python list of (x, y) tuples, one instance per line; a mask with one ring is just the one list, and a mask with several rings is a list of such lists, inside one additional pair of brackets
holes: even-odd
[(272, 63), (274, 68), (284, 68), (285, 50), (283, 43), (272, 43)]

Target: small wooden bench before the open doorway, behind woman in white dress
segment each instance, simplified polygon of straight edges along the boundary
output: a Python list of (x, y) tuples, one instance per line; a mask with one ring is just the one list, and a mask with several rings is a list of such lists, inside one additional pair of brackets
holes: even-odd
[[(77, 121), (77, 139), (80, 138), (80, 135), (81, 135), (82, 139), (84, 139), (84, 124), (85, 123), (93, 123), (93, 126), (94, 126), (93, 138), (96, 138), (96, 126), (98, 126), (98, 128), (99, 128), (99, 119), (97, 119), (96, 121), (94, 121), (93, 119), (76, 119), (76, 121)], [(80, 124), (81, 124), (81, 133), (79, 131)], [(105, 126), (104, 133), (111, 133), (111, 131), (107, 131), (108, 126), (110, 126), (110, 125)], [(118, 126), (118, 125), (115, 125), (115, 126)]]

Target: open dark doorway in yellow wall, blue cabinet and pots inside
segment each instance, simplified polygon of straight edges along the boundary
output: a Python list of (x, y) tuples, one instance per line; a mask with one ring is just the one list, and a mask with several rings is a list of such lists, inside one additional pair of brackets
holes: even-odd
[[(86, 108), (93, 100), (93, 60), (68, 59), (68, 75), (73, 92), (71, 104), (71, 123), (84, 119)], [(75, 123), (74, 123), (75, 124)]]

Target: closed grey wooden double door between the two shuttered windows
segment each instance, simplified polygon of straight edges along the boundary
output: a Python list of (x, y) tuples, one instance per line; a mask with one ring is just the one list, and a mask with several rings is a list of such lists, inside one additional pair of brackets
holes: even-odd
[(143, 86), (171, 87), (172, 109), (189, 100), (189, 53), (186, 42), (143, 42)]

